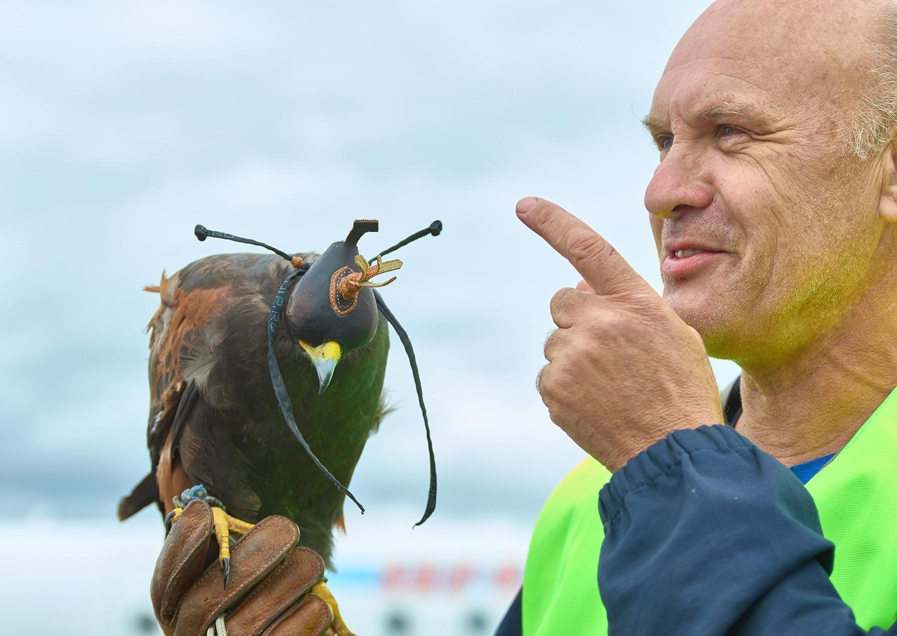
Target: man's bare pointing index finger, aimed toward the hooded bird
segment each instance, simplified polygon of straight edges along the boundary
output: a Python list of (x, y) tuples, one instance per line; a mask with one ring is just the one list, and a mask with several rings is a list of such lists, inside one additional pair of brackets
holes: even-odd
[(597, 231), (559, 205), (527, 196), (518, 201), (517, 214), (530, 230), (570, 261), (595, 292), (629, 292), (648, 284)]

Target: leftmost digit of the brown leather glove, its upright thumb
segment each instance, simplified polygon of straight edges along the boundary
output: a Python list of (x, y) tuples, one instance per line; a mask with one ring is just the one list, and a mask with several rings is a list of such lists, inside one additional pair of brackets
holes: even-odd
[(169, 633), (178, 603), (205, 570), (205, 556), (212, 538), (212, 509), (205, 501), (190, 501), (162, 545), (152, 573), (152, 608)]

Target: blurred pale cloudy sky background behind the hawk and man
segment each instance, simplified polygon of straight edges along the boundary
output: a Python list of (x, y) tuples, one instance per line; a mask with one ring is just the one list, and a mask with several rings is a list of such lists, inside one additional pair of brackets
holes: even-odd
[(563, 205), (659, 288), (639, 119), (706, 4), (0, 2), (0, 631), (161, 633), (161, 518), (115, 510), (149, 466), (141, 288), (241, 249), (193, 226), (305, 251), (377, 218), (363, 254), (445, 225), (396, 255), (386, 294), (439, 504), (412, 530), (427, 455), (394, 338), (396, 411), (355, 472), (369, 511), (345, 508), (332, 588), (364, 636), (492, 633), (583, 455), (535, 389), (548, 301), (579, 276), (514, 204)]

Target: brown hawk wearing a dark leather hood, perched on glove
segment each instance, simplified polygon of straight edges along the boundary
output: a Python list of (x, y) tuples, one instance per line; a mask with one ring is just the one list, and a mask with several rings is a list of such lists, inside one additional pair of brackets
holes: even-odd
[[(188, 499), (209, 501), (225, 581), (229, 534), (273, 514), (295, 521), (300, 544), (332, 565), (333, 529), (352, 497), (343, 484), (387, 411), (388, 323), (412, 362), (426, 424), (410, 342), (370, 289), (392, 282), (371, 279), (402, 264), (378, 257), (369, 266), (359, 255), (358, 240), (377, 229), (356, 221), (318, 257), (197, 226), (200, 240), (239, 240), (278, 256), (205, 257), (146, 288), (161, 297), (147, 327), (151, 470), (119, 502), (119, 518), (153, 502), (170, 516)], [(395, 247), (440, 230), (434, 222)], [(427, 441), (431, 489), (421, 522), (435, 505), (429, 426)]]

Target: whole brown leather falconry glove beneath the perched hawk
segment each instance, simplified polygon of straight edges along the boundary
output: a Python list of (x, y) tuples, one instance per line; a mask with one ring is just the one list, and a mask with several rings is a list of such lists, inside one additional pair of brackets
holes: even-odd
[(220, 616), (228, 636), (348, 633), (343, 624), (337, 628), (338, 612), (334, 621), (324, 562), (296, 547), (299, 528), (290, 519), (264, 518), (240, 539), (231, 549), (226, 588), (213, 555), (207, 565), (213, 534), (212, 510), (205, 501), (191, 501), (162, 546), (151, 596), (166, 636), (206, 636)]

